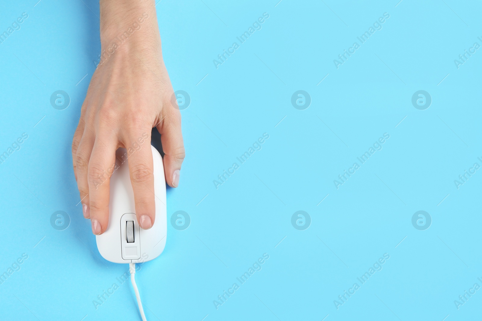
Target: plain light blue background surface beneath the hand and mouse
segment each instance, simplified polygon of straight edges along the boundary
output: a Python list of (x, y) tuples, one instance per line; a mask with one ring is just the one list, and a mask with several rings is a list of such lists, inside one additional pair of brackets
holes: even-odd
[[(454, 60), (482, 45), (482, 5), (277, 1), (157, 5), (174, 90), (191, 103), (182, 110), (180, 186), (168, 190), (166, 248), (136, 274), (148, 320), (475, 320), (482, 173), (458, 189), (454, 180), (482, 165), (482, 49), (458, 68)], [(0, 153), (28, 135), (0, 164), (1, 320), (140, 320), (130, 282), (120, 282), (128, 267), (100, 257), (72, 170), (72, 136), (100, 51), (98, 11), (94, 0), (0, 3), (0, 32), (28, 14), (0, 44)], [(216, 69), (217, 55), (263, 13), (262, 28)], [(56, 90), (68, 93), (68, 108), (52, 107)], [(292, 105), (297, 90), (309, 93), (307, 109)], [(412, 104), (418, 90), (431, 96), (428, 109)], [(261, 150), (237, 161), (263, 133)], [(362, 164), (357, 157), (385, 133)], [(191, 220), (185, 230), (171, 224), (180, 210)], [(300, 210), (308, 229), (299, 230), (306, 215), (305, 226), (297, 216), (292, 225)], [(51, 225), (56, 211), (68, 215), (64, 230)], [(417, 211), (429, 214), (428, 229), (427, 216), (425, 226), (418, 216), (412, 224)], [(345, 290), (354, 294), (341, 301)], [(464, 291), (475, 294), (460, 301)]]

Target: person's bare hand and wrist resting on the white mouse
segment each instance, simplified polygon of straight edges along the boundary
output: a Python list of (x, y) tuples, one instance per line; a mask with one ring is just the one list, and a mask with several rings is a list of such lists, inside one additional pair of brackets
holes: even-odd
[(129, 156), (129, 171), (143, 229), (151, 228), (155, 220), (151, 129), (161, 133), (169, 186), (177, 187), (185, 155), (181, 115), (171, 103), (173, 89), (162, 61), (154, 1), (101, 0), (100, 13), (101, 61), (72, 141), (83, 215), (91, 219), (95, 235), (107, 229), (109, 180), (119, 147), (135, 149)]

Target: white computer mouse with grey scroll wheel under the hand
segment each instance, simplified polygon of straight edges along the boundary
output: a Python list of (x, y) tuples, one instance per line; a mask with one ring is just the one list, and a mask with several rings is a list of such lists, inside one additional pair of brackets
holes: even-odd
[[(134, 192), (129, 176), (128, 153), (119, 148), (117, 167), (110, 178), (109, 222), (106, 231), (95, 236), (99, 253), (114, 263), (142, 263), (158, 257), (167, 236), (166, 180), (161, 154), (154, 147), (154, 191), (156, 219), (149, 230), (143, 230), (135, 217)], [(144, 148), (144, 147), (142, 147)], [(135, 150), (131, 150), (136, 153)]]

